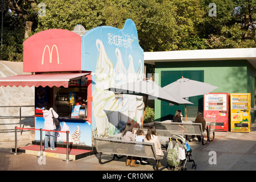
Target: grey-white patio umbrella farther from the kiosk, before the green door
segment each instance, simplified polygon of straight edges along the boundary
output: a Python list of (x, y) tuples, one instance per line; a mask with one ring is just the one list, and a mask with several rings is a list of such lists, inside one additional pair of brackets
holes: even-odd
[[(173, 93), (181, 98), (208, 94), (217, 88), (217, 86), (213, 86), (205, 82), (189, 80), (188, 78), (183, 77), (163, 87), (163, 89), (167, 90), (168, 93)], [(187, 121), (186, 105), (185, 118), (185, 121)]]

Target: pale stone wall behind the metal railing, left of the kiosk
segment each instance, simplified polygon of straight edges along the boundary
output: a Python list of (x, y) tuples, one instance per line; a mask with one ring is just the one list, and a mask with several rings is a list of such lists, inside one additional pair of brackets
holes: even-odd
[[(30, 74), (23, 73), (23, 63), (13, 61), (0, 61), (0, 78), (14, 75)], [(0, 106), (24, 106), (35, 105), (35, 87), (10, 87), (0, 86)], [(34, 107), (22, 107), (22, 116), (34, 116)], [(0, 107), (0, 116), (19, 116), (19, 107)], [(15, 126), (20, 127), (19, 119), (0, 118), (0, 142), (14, 141)], [(25, 118), (21, 121), (21, 127), (35, 127), (34, 118)], [(3, 131), (5, 130), (5, 131)], [(18, 140), (34, 140), (34, 131), (18, 132)]]

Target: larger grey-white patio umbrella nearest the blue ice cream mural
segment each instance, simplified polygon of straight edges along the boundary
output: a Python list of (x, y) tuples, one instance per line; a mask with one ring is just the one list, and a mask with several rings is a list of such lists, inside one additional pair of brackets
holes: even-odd
[(175, 105), (193, 104), (192, 102), (186, 101), (183, 98), (176, 96), (175, 94), (168, 93), (167, 90), (163, 89), (152, 80), (129, 82), (126, 84), (115, 86), (113, 88), (109, 88), (108, 90), (116, 93), (121, 93), (121, 94), (133, 94), (136, 96), (146, 96), (146, 101), (144, 102), (143, 117), (142, 117), (142, 127), (143, 127), (144, 113), (145, 113), (148, 97), (150, 97), (151, 99), (170, 102)]

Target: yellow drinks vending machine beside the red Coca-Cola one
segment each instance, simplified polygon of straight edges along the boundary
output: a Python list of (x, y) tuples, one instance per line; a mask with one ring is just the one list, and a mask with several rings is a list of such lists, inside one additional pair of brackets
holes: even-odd
[(251, 94), (231, 93), (230, 94), (230, 131), (250, 132), (251, 131)]

